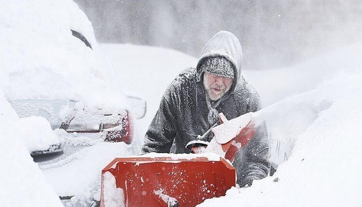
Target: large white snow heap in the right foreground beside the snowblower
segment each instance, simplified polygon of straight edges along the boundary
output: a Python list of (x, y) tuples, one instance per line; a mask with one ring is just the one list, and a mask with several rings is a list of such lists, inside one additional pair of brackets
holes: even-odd
[[(357, 45), (357, 48), (360, 48), (361, 55), (360, 46)], [(334, 60), (333, 54), (341, 53), (329, 54), (332, 57), (330, 62)], [(353, 59), (356, 56), (348, 55), (351, 52), (345, 54), (337, 61), (346, 62), (346, 67), (350, 66), (350, 62), (357, 62)], [(313, 69), (315, 61), (303, 66), (306, 70)], [(320, 61), (317, 66), (329, 63), (325, 62), (325, 57)], [(340, 65), (343, 64), (335, 64)], [(280, 121), (272, 126), (278, 127), (278, 130), (283, 128), (284, 132), (279, 135), (294, 139), (295, 147), (289, 159), (278, 167), (272, 177), (254, 181), (250, 188), (231, 189), (226, 197), (207, 200), (200, 207), (362, 205), (362, 64), (355, 64), (352, 68), (341, 67), (340, 71), (329, 66), (326, 64), (319, 68), (328, 76), (319, 77), (321, 82), (314, 89), (255, 113), (260, 120)], [(289, 120), (294, 123), (288, 123)], [(271, 133), (275, 131), (272, 127), (269, 129)], [(293, 129), (299, 130), (298, 133), (288, 134)], [(275, 135), (273, 137), (276, 138)]]

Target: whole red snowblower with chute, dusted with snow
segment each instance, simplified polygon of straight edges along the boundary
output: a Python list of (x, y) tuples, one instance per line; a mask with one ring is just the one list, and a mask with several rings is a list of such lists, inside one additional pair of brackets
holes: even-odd
[[(231, 165), (254, 136), (252, 113), (214, 125), (187, 144), (198, 154), (159, 154), (116, 158), (102, 170), (100, 207), (194, 207), (225, 196), (236, 186)], [(213, 139), (202, 141), (210, 131)]]

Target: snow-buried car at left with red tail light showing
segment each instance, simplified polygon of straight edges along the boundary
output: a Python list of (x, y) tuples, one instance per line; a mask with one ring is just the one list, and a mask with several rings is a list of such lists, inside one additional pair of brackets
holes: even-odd
[[(0, 13), (4, 97), (20, 118), (50, 122), (52, 142), (30, 151), (63, 150), (39, 167), (69, 200), (64, 203), (90, 206), (100, 197), (101, 169), (114, 157), (138, 153), (132, 120), (145, 115), (146, 103), (123, 91), (125, 77), (114, 75), (90, 21), (72, 0), (1, 1)], [(28, 121), (39, 120), (45, 119)], [(48, 136), (23, 139), (44, 143)]]

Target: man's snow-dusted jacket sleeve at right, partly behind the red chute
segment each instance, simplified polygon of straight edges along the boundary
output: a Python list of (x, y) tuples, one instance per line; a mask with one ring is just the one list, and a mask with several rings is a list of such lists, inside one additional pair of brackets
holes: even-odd
[[(248, 105), (248, 111), (258, 111), (262, 108), (259, 95), (256, 93), (252, 96)], [(268, 176), (270, 172), (269, 161), (269, 137), (266, 122), (263, 122), (255, 129), (253, 139), (241, 150), (237, 156), (238, 165), (238, 184), (241, 187), (249, 184), (253, 180), (260, 180)]]

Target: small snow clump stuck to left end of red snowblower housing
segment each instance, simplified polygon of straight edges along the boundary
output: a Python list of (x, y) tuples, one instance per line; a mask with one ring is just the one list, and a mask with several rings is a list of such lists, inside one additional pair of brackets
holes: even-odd
[(116, 187), (116, 179), (110, 172), (103, 174), (104, 207), (124, 207), (123, 189)]

